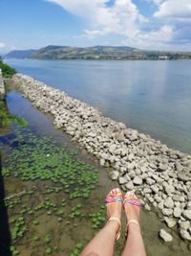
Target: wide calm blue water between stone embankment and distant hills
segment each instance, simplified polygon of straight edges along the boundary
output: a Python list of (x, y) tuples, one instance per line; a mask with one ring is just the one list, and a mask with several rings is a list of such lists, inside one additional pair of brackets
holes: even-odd
[(18, 72), (191, 153), (191, 61), (7, 59)]

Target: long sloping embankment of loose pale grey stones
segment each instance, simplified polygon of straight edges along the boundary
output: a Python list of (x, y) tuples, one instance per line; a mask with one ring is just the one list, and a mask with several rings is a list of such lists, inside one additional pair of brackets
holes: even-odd
[[(138, 130), (103, 117), (93, 106), (21, 74), (14, 75), (24, 97), (54, 117), (54, 125), (94, 154), (122, 189), (137, 190), (144, 207), (158, 207), (169, 228), (191, 241), (191, 155), (169, 149)], [(160, 237), (165, 240), (165, 231)], [(167, 240), (171, 241), (167, 233)]]

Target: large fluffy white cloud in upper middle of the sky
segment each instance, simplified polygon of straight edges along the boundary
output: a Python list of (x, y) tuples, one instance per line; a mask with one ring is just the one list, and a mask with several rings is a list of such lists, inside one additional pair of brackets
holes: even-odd
[[(164, 49), (169, 47), (175, 35), (175, 29), (172, 25), (160, 25), (160, 28), (158, 25), (157, 29), (147, 32), (141, 29), (142, 24), (147, 23), (148, 20), (140, 14), (133, 0), (115, 0), (112, 6), (107, 5), (109, 0), (45, 1), (57, 4), (68, 12), (86, 18), (88, 25), (84, 29), (83, 36), (91, 39), (103, 35), (114, 35), (118, 36), (118, 40), (122, 41), (123, 44), (129, 46), (142, 49)], [(149, 1), (158, 5), (159, 10), (165, 2), (171, 2), (171, 0)], [(183, 1), (181, 0), (181, 2)], [(173, 2), (178, 3), (177, 0), (173, 0)], [(155, 15), (159, 16), (159, 14)]]

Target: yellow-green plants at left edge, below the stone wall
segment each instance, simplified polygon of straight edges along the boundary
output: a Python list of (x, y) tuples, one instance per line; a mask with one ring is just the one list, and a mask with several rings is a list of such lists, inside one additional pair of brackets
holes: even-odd
[(0, 101), (0, 128), (9, 127), (12, 123), (17, 123), (23, 127), (28, 126), (27, 121), (22, 117), (10, 114), (6, 105), (6, 100)]

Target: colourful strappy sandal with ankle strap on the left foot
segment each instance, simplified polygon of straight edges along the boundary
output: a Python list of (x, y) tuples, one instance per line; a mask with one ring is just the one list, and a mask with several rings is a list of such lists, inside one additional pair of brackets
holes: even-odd
[[(114, 196), (114, 193), (116, 194), (115, 196)], [(122, 201), (123, 201), (122, 193), (118, 188), (111, 190), (105, 199), (106, 205), (108, 203), (122, 202)], [(120, 237), (120, 226), (121, 226), (120, 220), (117, 217), (110, 217), (110, 219), (108, 221), (117, 221), (117, 223), (119, 225), (118, 232), (117, 232), (117, 240), (118, 240)]]

